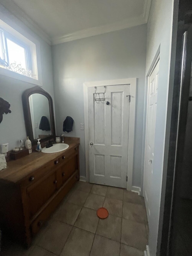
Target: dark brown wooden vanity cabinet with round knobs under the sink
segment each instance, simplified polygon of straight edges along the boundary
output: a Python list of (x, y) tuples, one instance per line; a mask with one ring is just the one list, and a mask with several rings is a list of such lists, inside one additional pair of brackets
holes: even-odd
[[(49, 159), (49, 154), (43, 155)], [(79, 180), (79, 143), (40, 168), (35, 169), (34, 162), (34, 171), (17, 182), (7, 179), (0, 174), (0, 227), (29, 247), (32, 236)]]

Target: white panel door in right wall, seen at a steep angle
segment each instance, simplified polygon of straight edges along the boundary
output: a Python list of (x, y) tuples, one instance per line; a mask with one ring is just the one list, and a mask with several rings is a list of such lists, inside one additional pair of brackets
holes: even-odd
[(145, 149), (145, 177), (144, 177), (144, 196), (146, 198), (146, 208), (150, 215), (150, 195), (152, 194), (151, 182), (153, 175), (155, 123), (157, 110), (159, 61), (149, 77), (148, 88), (148, 113), (146, 121), (146, 149)]

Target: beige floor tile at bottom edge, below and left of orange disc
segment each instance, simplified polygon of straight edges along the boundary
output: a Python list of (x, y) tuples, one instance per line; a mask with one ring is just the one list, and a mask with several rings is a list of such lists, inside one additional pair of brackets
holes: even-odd
[(91, 251), (94, 234), (73, 227), (61, 256), (88, 256)]

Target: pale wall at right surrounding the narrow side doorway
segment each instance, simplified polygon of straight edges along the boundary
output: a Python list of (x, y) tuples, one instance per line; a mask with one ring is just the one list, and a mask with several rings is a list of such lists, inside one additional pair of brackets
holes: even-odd
[[(163, 177), (166, 177), (167, 174), (167, 150), (169, 147), (174, 55), (176, 50), (176, 36), (173, 38), (174, 40), (172, 40), (173, 2), (177, 1), (152, 0), (147, 26), (146, 75), (150, 71), (150, 67), (154, 61), (158, 48), (160, 47), (153, 178), (151, 181), (152, 193), (148, 198), (150, 204), (150, 216), (147, 211), (149, 222), (149, 249), (151, 256), (159, 255), (161, 245), (164, 189), (166, 184), (166, 179), (163, 180), (163, 182), (162, 179)], [(174, 17), (174, 19), (177, 21), (177, 16)]]

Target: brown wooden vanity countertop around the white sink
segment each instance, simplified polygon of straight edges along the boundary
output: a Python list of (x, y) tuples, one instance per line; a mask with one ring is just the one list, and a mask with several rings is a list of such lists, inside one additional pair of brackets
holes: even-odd
[(32, 152), (23, 158), (7, 162), (7, 168), (0, 171), (0, 179), (13, 183), (19, 182), (34, 170), (45, 165), (47, 162), (58, 158), (62, 153), (66, 153), (71, 148), (78, 146), (80, 139), (76, 137), (65, 137), (64, 143), (69, 145), (69, 148), (64, 151), (50, 154)]

